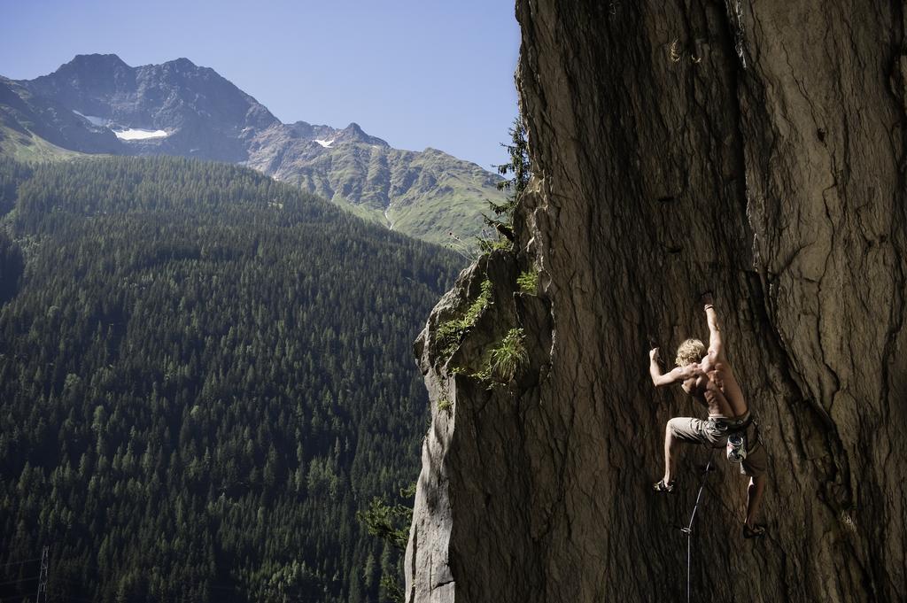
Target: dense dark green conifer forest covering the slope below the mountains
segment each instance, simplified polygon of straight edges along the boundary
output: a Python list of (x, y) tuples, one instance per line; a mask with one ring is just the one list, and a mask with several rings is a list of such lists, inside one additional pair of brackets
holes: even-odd
[[(377, 601), (457, 261), (251, 170), (0, 160), (0, 600)], [(32, 560), (29, 560), (32, 559)]]

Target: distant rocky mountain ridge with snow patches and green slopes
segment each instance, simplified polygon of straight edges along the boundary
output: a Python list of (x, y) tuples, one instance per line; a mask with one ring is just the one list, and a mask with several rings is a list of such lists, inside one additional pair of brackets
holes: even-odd
[[(437, 243), (470, 238), (500, 178), (441, 151), (400, 151), (358, 124), (285, 124), (213, 69), (180, 58), (131, 67), (77, 55), (54, 73), (0, 83), (0, 114), (63, 149), (248, 165), (366, 219)], [(18, 109), (15, 109), (18, 107)], [(23, 108), (24, 107), (24, 108)], [(45, 107), (53, 107), (53, 110)]]

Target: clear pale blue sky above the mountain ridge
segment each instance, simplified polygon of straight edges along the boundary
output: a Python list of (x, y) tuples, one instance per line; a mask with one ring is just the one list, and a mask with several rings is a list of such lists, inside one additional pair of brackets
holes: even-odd
[(0, 74), (75, 54), (211, 67), (283, 122), (362, 128), (490, 170), (517, 112), (509, 0), (0, 0)]

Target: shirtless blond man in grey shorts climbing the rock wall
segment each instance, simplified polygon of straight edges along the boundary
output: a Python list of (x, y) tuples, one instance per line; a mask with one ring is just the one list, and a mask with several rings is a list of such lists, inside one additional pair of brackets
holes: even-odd
[(708, 321), (708, 350), (698, 339), (688, 339), (678, 348), (677, 368), (666, 374), (658, 366), (658, 348), (649, 352), (649, 374), (652, 384), (664, 387), (681, 384), (683, 390), (708, 409), (707, 421), (677, 417), (665, 427), (665, 475), (654, 484), (658, 492), (674, 491), (673, 462), (678, 442), (701, 443), (724, 448), (731, 433), (745, 435), (746, 459), (741, 472), (750, 477), (746, 497), (744, 538), (763, 536), (765, 526), (756, 524), (756, 514), (766, 490), (766, 449), (762, 445), (746, 405), (746, 399), (727, 363), (721, 329), (712, 297), (704, 297)]

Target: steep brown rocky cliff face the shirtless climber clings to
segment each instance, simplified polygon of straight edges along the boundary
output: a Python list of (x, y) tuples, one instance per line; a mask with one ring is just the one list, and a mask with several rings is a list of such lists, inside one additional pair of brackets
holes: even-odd
[[(652, 388), (647, 350), (707, 335), (707, 289), (770, 534), (742, 539), (746, 481), (719, 462), (693, 598), (907, 598), (904, 9), (518, 0), (535, 177), (516, 252), (465, 272), (416, 346), (434, 420), (408, 601), (686, 598), (676, 526), (708, 451), (682, 451), (676, 495), (649, 488), (664, 423), (702, 411)], [(469, 375), (511, 326), (528, 360), (488, 389)]]

